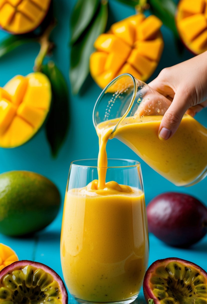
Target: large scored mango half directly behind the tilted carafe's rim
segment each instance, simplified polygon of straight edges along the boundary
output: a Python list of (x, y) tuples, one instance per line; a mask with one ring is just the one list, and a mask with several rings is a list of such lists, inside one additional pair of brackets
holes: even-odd
[(90, 56), (90, 73), (94, 81), (105, 88), (123, 73), (146, 81), (156, 69), (162, 51), (160, 32), (162, 22), (156, 16), (130, 16), (114, 23), (108, 33), (94, 43), (96, 51)]

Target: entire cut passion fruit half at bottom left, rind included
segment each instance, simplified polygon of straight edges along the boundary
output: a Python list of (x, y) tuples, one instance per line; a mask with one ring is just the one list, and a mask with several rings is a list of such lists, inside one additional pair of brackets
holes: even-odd
[(68, 295), (60, 276), (48, 266), (17, 261), (0, 271), (1, 304), (67, 304)]

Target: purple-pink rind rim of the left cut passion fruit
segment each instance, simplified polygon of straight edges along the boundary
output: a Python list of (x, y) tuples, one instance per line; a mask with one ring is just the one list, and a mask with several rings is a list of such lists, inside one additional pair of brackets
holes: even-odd
[(54, 280), (57, 281), (60, 286), (61, 293), (62, 293), (62, 304), (68, 304), (68, 293), (67, 293), (65, 284), (63, 283), (63, 280), (52, 268), (46, 266), (45, 264), (42, 264), (39, 262), (28, 261), (28, 260), (13, 262), (12, 264), (6, 266), (5, 268), (3, 268), (0, 271), (0, 281), (2, 280), (2, 277), (4, 277), (8, 272), (12, 272), (13, 270), (20, 268), (20, 267), (23, 268), (27, 265), (33, 266), (37, 269), (38, 268), (43, 269), (45, 272), (52, 275)]

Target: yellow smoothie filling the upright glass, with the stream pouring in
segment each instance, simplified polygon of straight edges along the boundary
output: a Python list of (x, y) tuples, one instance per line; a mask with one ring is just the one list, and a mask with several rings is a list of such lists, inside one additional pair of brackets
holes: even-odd
[[(121, 302), (136, 297), (148, 265), (148, 229), (142, 190), (106, 183), (106, 144), (99, 136), (98, 180), (66, 192), (61, 264), (76, 299)], [(96, 169), (95, 169), (96, 170)]]

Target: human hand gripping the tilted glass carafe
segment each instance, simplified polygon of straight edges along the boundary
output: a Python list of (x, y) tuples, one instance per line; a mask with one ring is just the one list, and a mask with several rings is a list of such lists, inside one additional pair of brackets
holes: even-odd
[(163, 69), (148, 85), (171, 100), (158, 130), (159, 138), (167, 140), (178, 129), (185, 112), (195, 116), (207, 107), (207, 51)]

